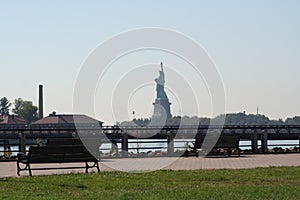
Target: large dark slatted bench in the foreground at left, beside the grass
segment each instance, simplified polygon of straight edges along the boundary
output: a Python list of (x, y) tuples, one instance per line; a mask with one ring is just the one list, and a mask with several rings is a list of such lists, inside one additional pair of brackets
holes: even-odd
[[(85, 168), (88, 173), (90, 168), (96, 168), (100, 172), (99, 160), (95, 158), (83, 145), (80, 139), (48, 139), (46, 146), (30, 146), (27, 155), (18, 154), (17, 175), (24, 170), (51, 170), (51, 169), (80, 169)], [(31, 164), (46, 163), (79, 163), (84, 162), (85, 166), (73, 167), (45, 167), (32, 168)], [(92, 163), (92, 164), (91, 164)], [(25, 165), (23, 168), (21, 165)]]

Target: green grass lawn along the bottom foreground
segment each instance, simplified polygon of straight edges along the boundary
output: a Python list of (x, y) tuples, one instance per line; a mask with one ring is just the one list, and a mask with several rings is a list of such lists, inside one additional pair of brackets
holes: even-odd
[(300, 199), (300, 167), (0, 179), (0, 199)]

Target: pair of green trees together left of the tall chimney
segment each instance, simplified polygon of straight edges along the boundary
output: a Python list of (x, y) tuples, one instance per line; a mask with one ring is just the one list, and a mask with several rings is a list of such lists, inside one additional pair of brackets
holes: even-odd
[[(12, 107), (13, 106), (13, 107)], [(32, 101), (17, 98), (11, 103), (6, 97), (0, 99), (0, 116), (10, 115), (10, 113), (23, 118), (27, 123), (38, 119), (38, 107)]]

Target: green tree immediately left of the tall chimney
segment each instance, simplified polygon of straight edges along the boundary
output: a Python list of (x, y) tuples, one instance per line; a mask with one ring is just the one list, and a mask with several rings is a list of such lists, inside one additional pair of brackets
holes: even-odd
[(34, 106), (31, 101), (23, 101), (18, 98), (14, 102), (15, 108), (13, 112), (22, 117), (27, 123), (31, 123), (38, 119), (37, 106)]

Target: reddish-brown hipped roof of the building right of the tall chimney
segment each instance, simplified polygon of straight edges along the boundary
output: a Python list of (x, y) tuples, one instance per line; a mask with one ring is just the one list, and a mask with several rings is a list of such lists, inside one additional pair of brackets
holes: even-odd
[(55, 112), (53, 112), (52, 114), (50, 114), (48, 117), (44, 117), (42, 119), (39, 119), (33, 123), (31, 123), (32, 125), (35, 124), (51, 124), (51, 125), (55, 125), (55, 124), (63, 124), (63, 125), (72, 125), (72, 124), (95, 124), (95, 123), (99, 123), (102, 124), (102, 121), (96, 120), (94, 118), (91, 118), (87, 115), (83, 115), (83, 114), (56, 114)]

